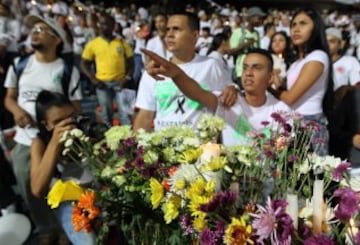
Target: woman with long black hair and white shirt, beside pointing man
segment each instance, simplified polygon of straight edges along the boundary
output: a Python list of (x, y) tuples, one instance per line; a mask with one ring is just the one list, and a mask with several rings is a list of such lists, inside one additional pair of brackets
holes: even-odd
[(270, 91), (306, 120), (318, 123), (312, 147), (317, 154), (326, 155), (329, 140), (326, 116), (332, 109), (333, 81), (325, 26), (319, 13), (311, 8), (298, 10), (291, 21), (291, 40), (297, 60), (287, 73), (288, 90)]

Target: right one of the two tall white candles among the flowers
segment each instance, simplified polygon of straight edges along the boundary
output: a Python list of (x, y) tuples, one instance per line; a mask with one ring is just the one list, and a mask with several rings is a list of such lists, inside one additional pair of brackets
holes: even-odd
[(322, 219), (323, 219), (323, 193), (324, 193), (324, 181), (315, 180), (314, 192), (313, 192), (313, 232), (315, 234), (321, 233)]

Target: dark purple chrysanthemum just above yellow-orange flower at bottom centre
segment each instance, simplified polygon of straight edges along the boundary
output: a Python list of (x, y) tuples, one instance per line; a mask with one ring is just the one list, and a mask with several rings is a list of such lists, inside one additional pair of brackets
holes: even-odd
[(203, 212), (214, 212), (217, 208), (227, 207), (236, 201), (236, 192), (222, 191), (217, 193), (210, 202), (200, 205), (199, 209)]

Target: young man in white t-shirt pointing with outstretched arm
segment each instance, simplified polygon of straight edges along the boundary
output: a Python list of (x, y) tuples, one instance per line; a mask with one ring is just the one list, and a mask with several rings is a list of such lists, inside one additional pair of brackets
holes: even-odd
[[(155, 79), (161, 80), (157, 74), (172, 77), (180, 90), (189, 98), (198, 101), (227, 122), (223, 130), (225, 145), (243, 144), (250, 142), (249, 133), (265, 130), (264, 121), (276, 126), (271, 118), (274, 112), (290, 112), (291, 109), (282, 101), (277, 100), (266, 90), (273, 77), (273, 61), (271, 54), (263, 49), (250, 50), (243, 64), (242, 85), (244, 95), (240, 94), (235, 105), (224, 108), (219, 104), (219, 98), (206, 91), (178, 67), (166, 62), (154, 53), (144, 51), (151, 56), (154, 63), (148, 67), (148, 72)], [(162, 83), (161, 81), (158, 83)], [(220, 99), (221, 100), (221, 99)]]

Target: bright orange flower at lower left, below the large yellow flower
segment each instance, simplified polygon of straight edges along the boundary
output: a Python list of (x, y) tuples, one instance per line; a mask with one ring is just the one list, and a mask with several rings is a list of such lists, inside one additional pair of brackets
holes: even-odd
[(91, 222), (100, 213), (100, 209), (95, 206), (95, 192), (87, 191), (81, 195), (77, 204), (75, 204), (72, 213), (72, 223), (74, 230), (79, 232), (84, 229), (86, 232), (91, 231)]

